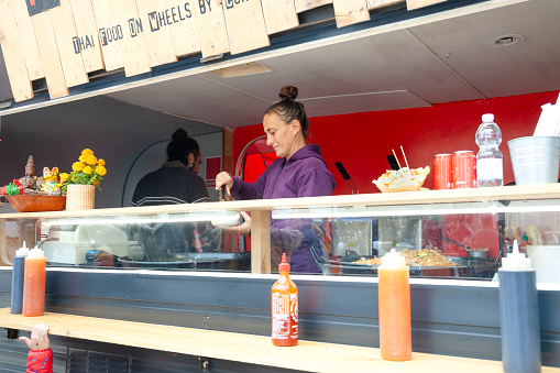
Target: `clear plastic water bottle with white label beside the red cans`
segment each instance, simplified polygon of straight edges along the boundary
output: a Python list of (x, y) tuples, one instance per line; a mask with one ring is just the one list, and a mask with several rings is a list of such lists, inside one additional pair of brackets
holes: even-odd
[(482, 116), (482, 124), (476, 131), (476, 186), (492, 187), (504, 185), (504, 156), (498, 150), (502, 131), (494, 123), (494, 114)]

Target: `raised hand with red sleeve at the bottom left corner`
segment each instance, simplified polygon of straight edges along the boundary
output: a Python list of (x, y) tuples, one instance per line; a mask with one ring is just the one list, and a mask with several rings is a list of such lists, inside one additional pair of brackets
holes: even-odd
[(31, 339), (20, 337), (30, 348), (26, 373), (53, 373), (53, 351), (48, 341), (48, 326), (36, 323), (31, 330)]

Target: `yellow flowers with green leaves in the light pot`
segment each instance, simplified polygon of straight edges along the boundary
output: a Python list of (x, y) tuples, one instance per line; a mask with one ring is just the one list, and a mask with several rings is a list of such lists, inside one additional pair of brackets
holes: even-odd
[(95, 185), (99, 190), (99, 182), (107, 174), (105, 161), (97, 158), (90, 149), (81, 151), (78, 162), (73, 163), (72, 173), (61, 174), (61, 183), (64, 185), (64, 191), (68, 184)]

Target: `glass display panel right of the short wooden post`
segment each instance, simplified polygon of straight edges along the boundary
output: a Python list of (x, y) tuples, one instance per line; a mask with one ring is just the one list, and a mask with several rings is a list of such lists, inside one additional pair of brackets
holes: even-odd
[[(273, 268), (284, 251), (299, 253), (292, 255), (295, 272), (376, 276), (381, 256), (395, 249), (405, 255), (411, 277), (493, 281), (515, 239), (539, 283), (560, 283), (554, 272), (560, 265), (560, 200), (286, 208), (272, 217), (273, 227), (308, 221), (320, 228), (315, 229), (319, 243), (289, 250), (273, 244)], [(300, 235), (310, 237), (305, 230)], [(309, 256), (318, 268), (296, 262)]]

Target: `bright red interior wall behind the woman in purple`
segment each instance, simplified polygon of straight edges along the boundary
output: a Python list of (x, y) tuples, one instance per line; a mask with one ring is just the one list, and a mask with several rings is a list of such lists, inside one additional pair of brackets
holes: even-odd
[[(429, 108), (371, 111), (310, 119), (309, 142), (321, 146), (327, 165), (334, 175), (334, 195), (350, 194), (334, 162), (342, 162), (361, 194), (377, 193), (372, 184), (387, 168), (386, 156), (395, 150), (404, 166), (400, 145), (410, 167), (429, 165), (438, 153), (479, 151), (474, 134), (482, 114), (493, 113), (502, 130), (499, 150), (504, 153), (504, 184), (514, 180), (507, 141), (532, 135), (541, 113), (540, 106), (558, 98), (558, 91), (502, 97), (487, 100), (433, 105)], [(263, 134), (262, 124), (233, 132), (234, 158), (253, 139)], [(425, 187), (433, 187), (433, 173)]]

